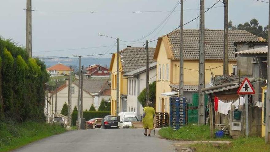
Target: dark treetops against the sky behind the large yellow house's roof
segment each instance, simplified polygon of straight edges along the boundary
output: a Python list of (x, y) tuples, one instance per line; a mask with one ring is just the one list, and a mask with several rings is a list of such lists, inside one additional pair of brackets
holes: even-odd
[(263, 37), (264, 39), (268, 38), (268, 25), (263, 28), (255, 18), (244, 24), (238, 24), (237, 26), (233, 26), (233, 22), (229, 21), (228, 26), (230, 30), (245, 30), (258, 37)]

